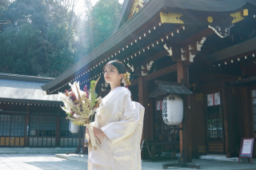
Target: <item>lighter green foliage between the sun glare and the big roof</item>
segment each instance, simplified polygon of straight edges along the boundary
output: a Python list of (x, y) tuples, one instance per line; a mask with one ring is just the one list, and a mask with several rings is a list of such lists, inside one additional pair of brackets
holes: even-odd
[(95, 6), (86, 0), (85, 5), (85, 19), (82, 21), (84, 27), (80, 32), (83, 38), (80, 40), (85, 45), (84, 53), (90, 53), (113, 33), (122, 5), (118, 0), (99, 0)]

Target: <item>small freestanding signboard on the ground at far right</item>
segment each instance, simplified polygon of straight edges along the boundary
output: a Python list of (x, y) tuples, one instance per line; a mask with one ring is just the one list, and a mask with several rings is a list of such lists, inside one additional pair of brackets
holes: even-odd
[(252, 164), (253, 151), (254, 151), (254, 137), (242, 137), (238, 163), (240, 161), (240, 157), (246, 157), (248, 159), (250, 158), (250, 164)]

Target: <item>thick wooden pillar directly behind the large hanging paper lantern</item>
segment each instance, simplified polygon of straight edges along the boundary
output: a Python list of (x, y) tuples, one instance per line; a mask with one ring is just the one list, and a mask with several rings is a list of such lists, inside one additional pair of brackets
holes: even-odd
[[(182, 83), (186, 89), (190, 89), (188, 66), (182, 61), (177, 63), (178, 83)], [(191, 145), (191, 122), (190, 122), (190, 96), (183, 97), (184, 112), (183, 121), (179, 125), (182, 130), (179, 131), (180, 136), (180, 154), (183, 154), (183, 162), (192, 162), (192, 145)], [(183, 153), (182, 153), (183, 151)]]

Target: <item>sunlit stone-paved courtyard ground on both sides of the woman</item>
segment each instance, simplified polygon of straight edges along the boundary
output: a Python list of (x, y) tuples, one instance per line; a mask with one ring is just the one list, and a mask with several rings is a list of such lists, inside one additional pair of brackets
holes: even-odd
[[(60, 154), (58, 154), (60, 155)], [(62, 154), (64, 156), (65, 154)], [(38, 169), (87, 169), (87, 156), (69, 155), (67, 159), (56, 157), (54, 154), (0, 154), (0, 170), (38, 170)], [(73, 159), (73, 160), (69, 160)], [(171, 163), (174, 160), (142, 161), (142, 170), (162, 169), (162, 164)], [(256, 161), (253, 164), (246, 162), (238, 164), (234, 161), (199, 160), (194, 163), (200, 164), (201, 169), (209, 170), (256, 170)], [(174, 170), (189, 170), (190, 168), (168, 168)]]

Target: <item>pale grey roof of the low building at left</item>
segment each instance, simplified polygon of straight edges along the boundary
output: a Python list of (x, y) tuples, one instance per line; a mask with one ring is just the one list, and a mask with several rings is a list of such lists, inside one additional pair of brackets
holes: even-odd
[(0, 73), (0, 101), (59, 105), (62, 102), (58, 94), (49, 96), (41, 89), (41, 85), (52, 80), (52, 77)]

